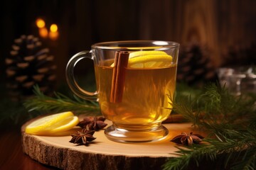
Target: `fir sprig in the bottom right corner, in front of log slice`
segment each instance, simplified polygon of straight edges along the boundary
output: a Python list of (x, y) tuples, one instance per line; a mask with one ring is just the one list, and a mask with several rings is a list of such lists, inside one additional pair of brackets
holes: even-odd
[[(235, 136), (233, 136), (235, 137)], [(238, 137), (240, 138), (240, 137)], [(248, 146), (246, 142), (255, 142), (254, 139), (249, 139), (238, 142), (235, 137), (234, 140), (220, 141), (218, 139), (206, 138), (204, 142), (208, 145), (193, 145), (193, 147), (177, 147), (176, 152), (178, 157), (169, 159), (164, 164), (163, 169), (198, 169), (203, 162), (214, 162), (221, 167), (208, 167), (208, 169), (247, 169), (246, 167), (253, 167), (256, 162), (256, 147), (254, 145)], [(206, 166), (206, 164), (203, 164)], [(191, 168), (191, 166), (193, 168)], [(250, 168), (249, 168), (250, 169)]]

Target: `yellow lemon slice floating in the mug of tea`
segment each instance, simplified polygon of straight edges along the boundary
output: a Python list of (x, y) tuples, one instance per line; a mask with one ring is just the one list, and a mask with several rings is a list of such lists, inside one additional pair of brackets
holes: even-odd
[(163, 51), (138, 51), (129, 54), (128, 67), (156, 68), (171, 64), (172, 57)]

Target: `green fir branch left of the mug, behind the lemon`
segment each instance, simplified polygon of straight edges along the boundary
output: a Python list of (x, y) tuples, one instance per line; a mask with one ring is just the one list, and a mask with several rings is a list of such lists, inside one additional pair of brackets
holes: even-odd
[(74, 96), (69, 98), (60, 93), (55, 93), (55, 98), (45, 96), (38, 86), (34, 86), (35, 97), (26, 100), (23, 104), (28, 111), (75, 111), (79, 113), (94, 112), (100, 114), (100, 108), (93, 101), (83, 101)]

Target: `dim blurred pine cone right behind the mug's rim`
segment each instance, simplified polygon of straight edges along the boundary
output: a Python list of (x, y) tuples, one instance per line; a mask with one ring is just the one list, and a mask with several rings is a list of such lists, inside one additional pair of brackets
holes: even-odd
[(217, 79), (215, 68), (210, 63), (208, 52), (199, 45), (181, 48), (178, 59), (177, 81), (200, 84)]

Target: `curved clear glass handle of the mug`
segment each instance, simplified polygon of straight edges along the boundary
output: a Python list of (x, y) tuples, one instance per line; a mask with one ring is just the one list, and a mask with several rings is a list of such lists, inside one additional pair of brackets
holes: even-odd
[(68, 81), (68, 86), (70, 87), (70, 89), (73, 91), (73, 93), (75, 95), (77, 95), (80, 98), (83, 98), (85, 100), (97, 101), (97, 92), (96, 91), (95, 92), (85, 91), (75, 81), (75, 77), (74, 77), (75, 64), (77, 64), (80, 60), (85, 59), (85, 58), (93, 60), (91, 52), (82, 51), (82, 52), (79, 52), (78, 54), (74, 55), (73, 57), (71, 57), (70, 60), (68, 61), (68, 64), (67, 64), (67, 67), (65, 70), (65, 76)]

